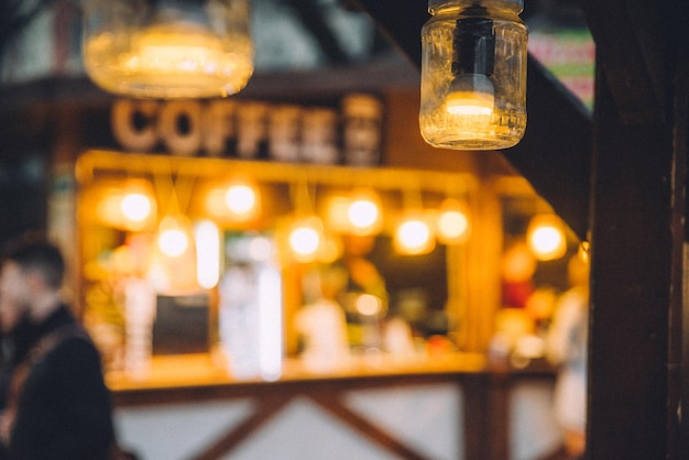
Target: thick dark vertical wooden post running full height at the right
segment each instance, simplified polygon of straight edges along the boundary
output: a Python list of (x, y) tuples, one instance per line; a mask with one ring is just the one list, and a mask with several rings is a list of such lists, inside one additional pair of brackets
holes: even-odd
[[(584, 0), (597, 44), (588, 458), (679, 459), (680, 2)], [(686, 141), (683, 141), (686, 144)]]

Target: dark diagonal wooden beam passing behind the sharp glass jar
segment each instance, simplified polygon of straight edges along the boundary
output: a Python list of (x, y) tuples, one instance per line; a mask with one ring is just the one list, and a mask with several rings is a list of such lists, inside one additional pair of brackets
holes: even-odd
[[(426, 2), (353, 2), (420, 68), (420, 29), (429, 18)], [(517, 146), (502, 153), (584, 240), (589, 217), (590, 116), (533, 57), (528, 58), (527, 76), (526, 134)]]

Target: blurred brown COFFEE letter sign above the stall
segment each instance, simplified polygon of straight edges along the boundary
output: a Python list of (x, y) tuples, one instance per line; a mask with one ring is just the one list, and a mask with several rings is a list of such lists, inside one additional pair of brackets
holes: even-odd
[(380, 164), (383, 108), (370, 95), (339, 109), (222, 99), (112, 105), (112, 133), (125, 151), (320, 164)]

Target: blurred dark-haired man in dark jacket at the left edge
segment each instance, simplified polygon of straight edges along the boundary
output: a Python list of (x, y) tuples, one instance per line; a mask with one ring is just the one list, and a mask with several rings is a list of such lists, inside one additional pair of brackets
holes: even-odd
[(0, 271), (0, 459), (113, 457), (110, 393), (94, 342), (62, 300), (54, 245), (22, 239)]

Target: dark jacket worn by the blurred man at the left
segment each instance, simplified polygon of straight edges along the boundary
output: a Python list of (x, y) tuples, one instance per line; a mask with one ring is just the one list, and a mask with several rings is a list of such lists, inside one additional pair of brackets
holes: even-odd
[[(80, 328), (65, 306), (40, 325), (22, 326), (10, 340), (9, 372), (36, 354), (43, 338)], [(31, 364), (20, 393), (11, 440), (0, 459), (102, 460), (113, 441), (110, 393), (88, 336), (53, 340)], [(8, 380), (11, 381), (11, 377)], [(9, 401), (6, 402), (9, 404)]]

